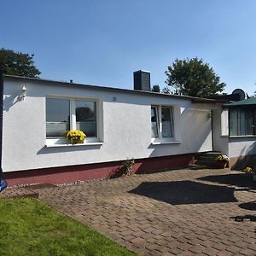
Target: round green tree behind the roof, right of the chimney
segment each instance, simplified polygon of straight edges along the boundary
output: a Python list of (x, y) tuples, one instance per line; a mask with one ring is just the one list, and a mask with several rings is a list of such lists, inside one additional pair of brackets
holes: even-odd
[(213, 96), (222, 92), (226, 84), (219, 83), (219, 77), (208, 63), (198, 58), (175, 60), (166, 71), (166, 84), (183, 96)]

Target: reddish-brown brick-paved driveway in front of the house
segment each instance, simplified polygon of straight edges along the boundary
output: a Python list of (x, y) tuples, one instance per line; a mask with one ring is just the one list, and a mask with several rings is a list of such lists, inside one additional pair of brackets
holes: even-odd
[(256, 183), (178, 170), (40, 189), (39, 198), (143, 255), (256, 255)]

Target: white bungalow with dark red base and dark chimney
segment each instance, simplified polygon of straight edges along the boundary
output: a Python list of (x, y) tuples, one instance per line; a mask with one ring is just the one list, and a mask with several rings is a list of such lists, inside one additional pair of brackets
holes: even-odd
[[(136, 160), (134, 172), (156, 172), (188, 166), (198, 152), (237, 157), (221, 102), (151, 92), (148, 72), (134, 78), (137, 90), (4, 75), (9, 185), (108, 177), (127, 158)], [(69, 130), (84, 131), (84, 143), (71, 144)]]

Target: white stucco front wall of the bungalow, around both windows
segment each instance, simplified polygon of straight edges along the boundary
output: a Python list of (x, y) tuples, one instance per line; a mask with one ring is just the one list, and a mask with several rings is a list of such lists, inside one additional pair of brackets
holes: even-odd
[[(217, 108), (215, 105), (192, 104), (176, 97), (73, 88), (72, 84), (25, 82), (10, 78), (4, 81), (4, 172), (212, 150), (209, 114), (212, 108)], [(26, 84), (27, 96), (19, 101), (17, 97), (23, 84)], [(46, 148), (46, 96), (97, 99), (102, 145)], [(150, 108), (159, 104), (174, 107), (175, 135), (180, 143), (151, 143)]]

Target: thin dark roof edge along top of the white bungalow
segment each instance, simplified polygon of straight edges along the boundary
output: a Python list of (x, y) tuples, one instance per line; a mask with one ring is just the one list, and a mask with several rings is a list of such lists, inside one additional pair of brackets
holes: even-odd
[(217, 99), (207, 99), (207, 98), (200, 98), (200, 97), (192, 97), (192, 96), (178, 96), (178, 95), (171, 95), (165, 93), (159, 93), (154, 91), (146, 91), (146, 90), (129, 90), (129, 89), (121, 89), (121, 88), (114, 88), (102, 85), (95, 85), (95, 84), (76, 84), (76, 83), (68, 83), (62, 81), (55, 81), (50, 79), (34, 79), (34, 78), (26, 78), (20, 76), (13, 76), (13, 75), (3, 75), (4, 79), (14, 79), (14, 80), (23, 80), (23, 81), (35, 81), (37, 83), (54, 83), (55, 85), (60, 86), (68, 86), (69, 88), (72, 86), (73, 88), (84, 88), (84, 89), (93, 89), (93, 90), (108, 90), (114, 92), (125, 92), (127, 94), (137, 94), (137, 95), (145, 95), (145, 96), (161, 96), (161, 97), (173, 97), (179, 98), (181, 100), (189, 100), (193, 103), (224, 103), (224, 100), (217, 100)]

